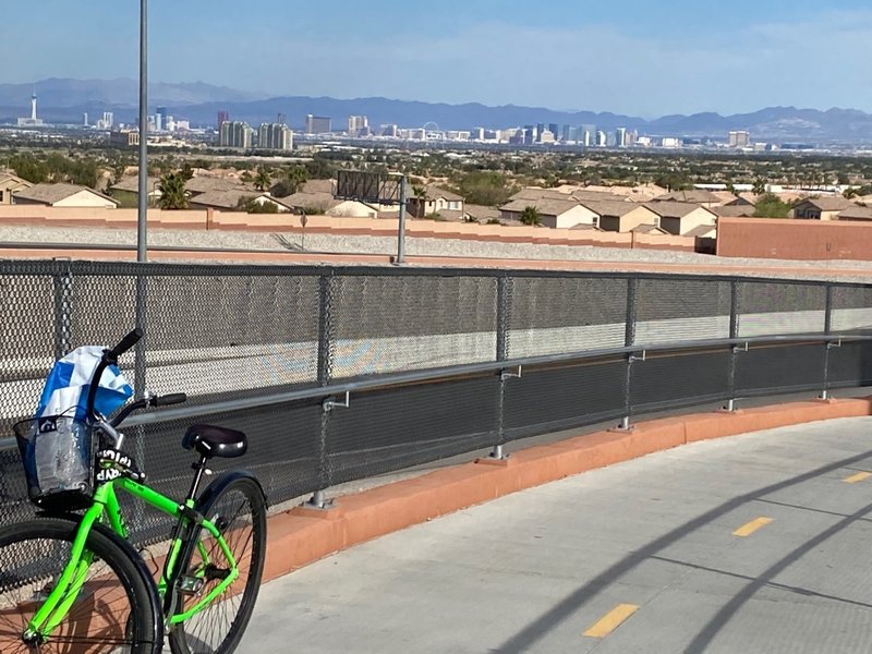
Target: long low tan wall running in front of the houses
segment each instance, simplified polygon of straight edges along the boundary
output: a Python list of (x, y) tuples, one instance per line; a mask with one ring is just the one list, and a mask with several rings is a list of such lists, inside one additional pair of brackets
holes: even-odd
[[(307, 216), (307, 233), (392, 237), (399, 219), (332, 218)], [(0, 207), (0, 226), (134, 228), (136, 209), (56, 208), (40, 206)], [(407, 220), (412, 238), (538, 243), (550, 245), (589, 245), (602, 247), (682, 250), (693, 252), (695, 239), (590, 230), (547, 229), (526, 226), (475, 225)], [(290, 214), (245, 214), (241, 211), (148, 210), (148, 227), (155, 229), (300, 232), (300, 217)]]

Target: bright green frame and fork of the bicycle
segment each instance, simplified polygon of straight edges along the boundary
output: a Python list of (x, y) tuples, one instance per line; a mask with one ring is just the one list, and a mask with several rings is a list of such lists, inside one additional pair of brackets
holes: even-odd
[[(157, 581), (157, 591), (161, 598), (166, 596), (167, 590), (175, 582), (179, 577), (177, 570), (179, 556), (182, 552), (183, 544), (189, 540), (192, 531), (197, 526), (203, 526), (209, 534), (211, 534), (228, 564), (229, 572), (225, 579), (220, 581), (214, 589), (211, 589), (205, 597), (202, 597), (193, 607), (172, 616), (166, 616), (167, 625), (177, 625), (187, 620), (208, 606), (216, 597), (227, 590), (239, 577), (239, 568), (230, 547), (227, 545), (221, 533), (210, 521), (206, 520), (202, 514), (194, 510), (194, 500), (189, 499), (180, 505), (178, 501), (161, 495), (160, 493), (134, 482), (128, 477), (119, 477), (117, 480), (106, 482), (100, 485), (94, 494), (94, 504), (85, 511), (82, 518), (78, 531), (73, 541), (70, 560), (64, 567), (63, 572), (58, 579), (55, 588), (44, 602), (43, 606), (36, 611), (33, 619), (27, 625), (25, 637), (48, 637), (61, 623), (63, 618), (69, 613), (80, 591), (85, 582), (87, 569), (93, 561), (92, 553), (85, 548), (90, 530), (96, 523), (108, 523), (109, 528), (123, 538), (128, 537), (128, 529), (124, 524), (123, 516), (121, 513), (121, 506), (118, 501), (116, 494), (116, 486), (122, 491), (137, 497), (155, 507), (159, 511), (172, 516), (178, 520), (178, 529), (174, 531), (174, 537), (170, 544), (170, 549), (167, 554), (167, 560), (164, 565), (164, 571), (160, 579)], [(196, 543), (196, 547), (203, 557), (205, 564), (208, 564), (208, 553), (203, 546), (202, 541)], [(205, 570), (199, 569), (195, 572), (197, 577), (205, 577)]]

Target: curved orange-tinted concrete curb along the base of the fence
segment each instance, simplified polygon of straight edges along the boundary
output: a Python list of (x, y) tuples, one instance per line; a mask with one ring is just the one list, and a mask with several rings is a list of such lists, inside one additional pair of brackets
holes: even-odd
[(795, 402), (639, 423), (479, 460), (340, 497), (329, 510), (298, 507), (269, 519), (264, 580), (433, 518), (588, 470), (688, 443), (872, 414), (872, 397)]

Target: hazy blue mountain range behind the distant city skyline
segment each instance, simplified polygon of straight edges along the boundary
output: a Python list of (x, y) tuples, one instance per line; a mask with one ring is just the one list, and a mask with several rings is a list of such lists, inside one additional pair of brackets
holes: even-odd
[[(104, 111), (112, 111), (117, 122), (132, 123), (137, 116), (138, 86), (134, 80), (49, 78), (36, 84), (0, 84), (0, 124), (14, 122), (20, 116), (28, 116), (33, 93), (38, 98), (39, 117), (49, 123), (80, 123), (85, 112), (92, 121)], [(283, 113), (288, 117), (288, 123), (295, 129), (303, 126), (307, 113), (332, 117), (334, 128), (339, 130), (343, 128), (348, 116), (363, 114), (368, 117), (373, 126), (396, 123), (414, 128), (436, 123), (443, 130), (469, 130), (475, 126), (501, 129), (536, 123), (594, 124), (598, 130), (623, 126), (652, 136), (725, 138), (731, 130), (748, 130), (753, 141), (812, 144), (872, 142), (872, 114), (856, 109), (821, 111), (767, 107), (732, 116), (704, 112), (645, 120), (610, 112), (557, 111), (514, 105), (447, 105), (380, 97), (269, 97), (202, 82), (155, 83), (149, 85), (148, 94), (152, 112), (155, 107), (167, 107), (170, 114), (187, 119), (193, 125), (214, 125), (218, 111), (228, 111), (231, 120), (244, 120), (254, 125), (274, 121), (278, 113)]]

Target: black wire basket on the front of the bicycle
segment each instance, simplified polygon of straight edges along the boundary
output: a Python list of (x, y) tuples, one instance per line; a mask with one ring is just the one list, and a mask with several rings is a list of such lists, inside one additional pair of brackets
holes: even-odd
[(68, 415), (24, 420), (13, 426), (27, 493), (46, 511), (71, 511), (94, 496), (93, 425)]

